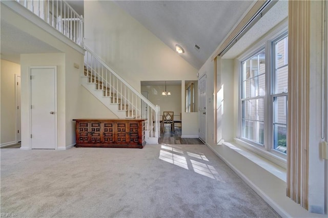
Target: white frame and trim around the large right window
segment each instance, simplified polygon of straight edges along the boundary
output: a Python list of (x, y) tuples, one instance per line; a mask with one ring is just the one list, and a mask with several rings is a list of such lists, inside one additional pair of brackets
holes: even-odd
[[(273, 104), (271, 100), (271, 71), (272, 71), (272, 42), (276, 41), (279, 37), (284, 35), (288, 31), (288, 19), (285, 19), (280, 25), (269, 31), (263, 37), (261, 37), (257, 43), (248, 49), (248, 51), (237, 57), (236, 61), (236, 76), (238, 78), (238, 121), (237, 121), (237, 132), (235, 141), (237, 144), (244, 148), (254, 152), (255, 154), (268, 159), (269, 161), (276, 163), (277, 165), (286, 168), (286, 155), (281, 152), (272, 150), (273, 143)], [(270, 72), (265, 76), (265, 96), (264, 96), (264, 145), (258, 145), (257, 143), (243, 139), (242, 136), (242, 105), (241, 105), (241, 63), (247, 60), (252, 55), (256, 54), (262, 48), (265, 48), (265, 71)]]

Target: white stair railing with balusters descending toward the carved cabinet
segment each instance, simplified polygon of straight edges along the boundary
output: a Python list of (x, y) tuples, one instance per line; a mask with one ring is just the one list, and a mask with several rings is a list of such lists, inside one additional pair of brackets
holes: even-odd
[(110, 103), (126, 111), (127, 118), (146, 119), (145, 130), (149, 130), (149, 137), (158, 138), (159, 106), (137, 92), (86, 46), (85, 50), (85, 76), (89, 81), (96, 84), (97, 90), (103, 90)]

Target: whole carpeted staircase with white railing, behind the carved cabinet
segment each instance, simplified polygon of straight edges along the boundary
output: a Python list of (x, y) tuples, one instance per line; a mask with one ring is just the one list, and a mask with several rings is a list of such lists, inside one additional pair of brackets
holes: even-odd
[(81, 75), (81, 84), (118, 118), (146, 119), (146, 142), (158, 144), (159, 106), (132, 88), (90, 49), (85, 49), (85, 69)]

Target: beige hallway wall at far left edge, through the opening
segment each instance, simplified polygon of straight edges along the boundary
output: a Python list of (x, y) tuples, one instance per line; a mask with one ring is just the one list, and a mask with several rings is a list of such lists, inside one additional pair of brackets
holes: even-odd
[(20, 65), (1, 59), (1, 146), (16, 143), (15, 74)]

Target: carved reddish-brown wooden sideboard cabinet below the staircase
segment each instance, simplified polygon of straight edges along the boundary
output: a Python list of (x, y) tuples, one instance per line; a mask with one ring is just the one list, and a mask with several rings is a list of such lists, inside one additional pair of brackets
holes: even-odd
[(73, 119), (75, 147), (145, 146), (145, 120), (136, 119)]

